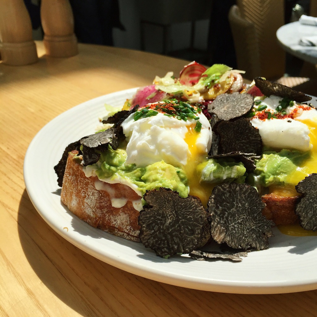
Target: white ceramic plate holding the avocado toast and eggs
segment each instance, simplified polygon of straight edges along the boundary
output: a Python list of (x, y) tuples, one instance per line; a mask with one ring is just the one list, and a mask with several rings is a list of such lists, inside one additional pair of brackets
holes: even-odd
[[(64, 148), (94, 133), (104, 103), (121, 107), (135, 89), (89, 100), (62, 113), (36, 135), (24, 160), (29, 197), (44, 220), (66, 240), (90, 255), (130, 273), (177, 286), (226, 293), (270, 294), (317, 288), (317, 237), (293, 237), (274, 230), (266, 250), (242, 262), (168, 260), (141, 243), (127, 241), (89, 226), (60, 202), (53, 166)], [(315, 102), (315, 100), (314, 100)], [(316, 104), (316, 102), (315, 102)]]

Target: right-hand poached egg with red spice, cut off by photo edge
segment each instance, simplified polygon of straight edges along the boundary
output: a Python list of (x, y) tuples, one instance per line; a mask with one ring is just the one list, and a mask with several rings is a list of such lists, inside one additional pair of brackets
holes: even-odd
[[(250, 122), (259, 130), (264, 146), (277, 151), (281, 149), (311, 151), (310, 158), (288, 176), (287, 183), (297, 185), (306, 176), (316, 172), (317, 110), (308, 105), (293, 102), (293, 105), (284, 109), (283, 115), (280, 113), (276, 115), (281, 102), (282, 98), (274, 95), (261, 100), (259, 105), (266, 106), (266, 108), (256, 112)], [(271, 190), (278, 191), (277, 189)], [(296, 191), (291, 190), (290, 192), (297, 195)]]

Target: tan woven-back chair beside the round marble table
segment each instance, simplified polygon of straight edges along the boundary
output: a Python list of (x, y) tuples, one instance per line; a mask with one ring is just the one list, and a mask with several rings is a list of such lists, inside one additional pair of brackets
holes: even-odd
[(285, 72), (285, 52), (276, 31), (284, 25), (284, 1), (237, 0), (229, 11), (229, 22), (239, 69), (245, 77), (275, 80)]

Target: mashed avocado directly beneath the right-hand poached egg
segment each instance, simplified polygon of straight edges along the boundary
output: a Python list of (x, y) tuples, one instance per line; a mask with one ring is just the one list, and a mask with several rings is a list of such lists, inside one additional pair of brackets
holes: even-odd
[(286, 184), (291, 175), (304, 160), (309, 158), (309, 152), (281, 150), (281, 152), (265, 151), (256, 163), (255, 174), (260, 185)]

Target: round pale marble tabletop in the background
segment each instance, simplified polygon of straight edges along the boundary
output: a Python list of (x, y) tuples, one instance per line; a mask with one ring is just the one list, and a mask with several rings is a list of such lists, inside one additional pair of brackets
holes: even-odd
[(299, 22), (288, 23), (277, 30), (276, 36), (281, 46), (289, 54), (312, 64), (317, 64), (317, 46), (299, 45), (301, 37), (317, 36), (317, 26), (305, 25)]

